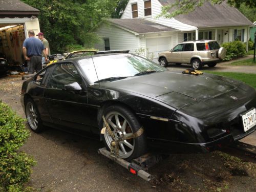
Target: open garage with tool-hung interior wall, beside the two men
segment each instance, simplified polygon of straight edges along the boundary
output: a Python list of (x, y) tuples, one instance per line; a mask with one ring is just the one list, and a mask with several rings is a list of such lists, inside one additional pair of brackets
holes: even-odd
[(28, 31), (40, 32), (39, 10), (19, 0), (0, 1), (0, 55), (21, 64), (23, 42)]

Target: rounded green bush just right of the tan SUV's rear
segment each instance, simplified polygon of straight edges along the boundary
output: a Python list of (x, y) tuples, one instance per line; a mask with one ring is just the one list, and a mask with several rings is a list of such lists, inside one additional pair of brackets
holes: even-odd
[(243, 42), (235, 40), (232, 42), (224, 42), (222, 44), (227, 50), (226, 57), (223, 60), (231, 60), (237, 57), (244, 57), (246, 55), (246, 45)]

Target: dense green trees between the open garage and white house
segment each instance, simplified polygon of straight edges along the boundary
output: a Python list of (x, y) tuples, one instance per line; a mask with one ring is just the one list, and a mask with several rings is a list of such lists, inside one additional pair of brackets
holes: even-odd
[[(38, 19), (53, 53), (64, 52), (69, 45), (91, 48), (90, 33), (103, 18), (111, 17), (118, 0), (22, 0), (40, 11)], [(89, 41), (88, 41), (89, 40)]]

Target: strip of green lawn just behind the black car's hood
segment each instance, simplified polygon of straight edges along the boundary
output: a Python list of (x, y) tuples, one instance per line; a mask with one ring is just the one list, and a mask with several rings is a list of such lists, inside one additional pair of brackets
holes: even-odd
[(216, 72), (216, 71), (204, 71), (204, 72), (237, 79), (245, 82), (249, 86), (256, 89), (256, 74), (253, 74), (253, 73), (233, 73), (233, 72)]

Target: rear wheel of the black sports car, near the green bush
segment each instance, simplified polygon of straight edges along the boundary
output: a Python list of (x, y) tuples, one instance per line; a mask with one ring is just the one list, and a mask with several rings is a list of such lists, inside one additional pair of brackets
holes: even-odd
[(28, 120), (29, 127), (33, 132), (39, 133), (44, 130), (44, 126), (42, 125), (40, 114), (38, 112), (38, 109), (33, 99), (29, 98), (26, 100), (25, 113), (26, 113), (26, 118)]

